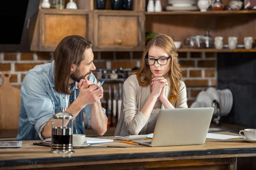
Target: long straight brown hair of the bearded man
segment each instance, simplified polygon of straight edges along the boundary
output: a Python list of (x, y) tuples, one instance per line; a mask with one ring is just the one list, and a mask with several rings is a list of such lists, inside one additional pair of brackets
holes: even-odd
[(72, 64), (79, 67), (84, 60), (84, 51), (91, 48), (92, 43), (78, 35), (65, 37), (58, 44), (55, 53), (54, 87), (58, 93), (70, 94), (70, 69)]

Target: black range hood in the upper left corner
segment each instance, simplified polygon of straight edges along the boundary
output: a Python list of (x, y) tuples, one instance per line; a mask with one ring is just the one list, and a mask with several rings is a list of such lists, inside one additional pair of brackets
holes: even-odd
[(4, 0), (0, 4), (0, 52), (29, 51), (40, 0)]

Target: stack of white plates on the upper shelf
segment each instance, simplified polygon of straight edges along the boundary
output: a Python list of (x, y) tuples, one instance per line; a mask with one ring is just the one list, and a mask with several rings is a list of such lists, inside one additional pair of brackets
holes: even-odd
[(193, 11), (199, 10), (198, 0), (168, 0), (170, 6), (166, 6), (166, 11)]

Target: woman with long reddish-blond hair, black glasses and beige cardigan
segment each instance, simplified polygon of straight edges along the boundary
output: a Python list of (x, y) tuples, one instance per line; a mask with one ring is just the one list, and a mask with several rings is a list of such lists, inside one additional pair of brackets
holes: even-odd
[(154, 133), (160, 109), (188, 107), (177, 56), (167, 35), (156, 35), (148, 42), (140, 69), (124, 82), (115, 135)]

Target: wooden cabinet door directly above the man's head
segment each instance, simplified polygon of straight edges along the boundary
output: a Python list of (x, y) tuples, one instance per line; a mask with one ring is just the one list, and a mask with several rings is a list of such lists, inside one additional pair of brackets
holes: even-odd
[(92, 41), (91, 16), (89, 11), (81, 9), (42, 9), (39, 31), (40, 51), (54, 51), (58, 43), (68, 35), (80, 35)]

